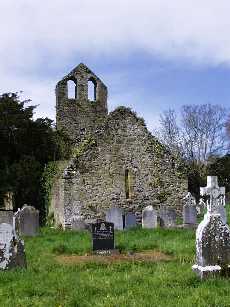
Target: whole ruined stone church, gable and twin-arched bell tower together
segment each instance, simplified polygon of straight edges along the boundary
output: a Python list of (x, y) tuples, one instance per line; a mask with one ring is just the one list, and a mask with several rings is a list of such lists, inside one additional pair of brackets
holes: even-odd
[[(86, 85), (78, 100), (66, 100), (65, 91), (60, 89), (63, 82), (72, 75), (76, 78), (80, 75), (79, 80), (84, 81), (91, 74), (80, 64), (57, 87), (58, 128), (65, 127), (78, 143), (74, 157), (59, 177), (60, 185), (55, 185), (53, 196), (61, 195), (59, 209), (52, 206), (58, 222), (71, 228), (73, 219), (103, 219), (111, 207), (135, 213), (138, 222), (143, 208), (149, 205), (159, 209), (164, 204), (181, 213), (181, 200), (187, 193), (181, 161), (151, 135), (141, 118), (125, 107), (106, 115), (107, 92), (101, 81), (93, 108), (85, 99)], [(79, 111), (79, 103), (87, 107)], [(81, 127), (87, 133), (80, 135)]]

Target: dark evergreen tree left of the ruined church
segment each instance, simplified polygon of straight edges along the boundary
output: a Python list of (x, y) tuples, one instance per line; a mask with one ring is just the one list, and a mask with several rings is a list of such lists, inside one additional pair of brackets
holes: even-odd
[(44, 167), (68, 158), (71, 146), (52, 120), (33, 120), (36, 106), (26, 106), (28, 102), (17, 93), (0, 95), (0, 203), (12, 191), (15, 209), (28, 203), (44, 212), (39, 198)]

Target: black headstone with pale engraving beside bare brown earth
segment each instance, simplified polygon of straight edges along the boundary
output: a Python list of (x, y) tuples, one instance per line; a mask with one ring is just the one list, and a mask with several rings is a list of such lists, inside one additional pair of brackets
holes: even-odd
[[(93, 251), (110, 253), (114, 250), (114, 224), (99, 222), (92, 224)], [(101, 252), (102, 251), (102, 252)]]

